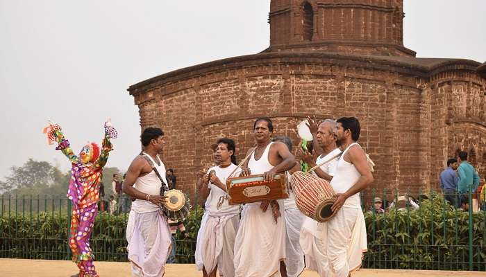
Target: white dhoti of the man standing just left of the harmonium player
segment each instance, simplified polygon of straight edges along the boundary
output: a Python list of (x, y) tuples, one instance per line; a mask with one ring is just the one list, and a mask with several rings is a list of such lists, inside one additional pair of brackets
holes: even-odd
[(239, 225), (240, 215), (208, 216), (201, 247), (201, 258), (208, 274), (217, 266), (219, 276), (235, 276), (233, 258)]

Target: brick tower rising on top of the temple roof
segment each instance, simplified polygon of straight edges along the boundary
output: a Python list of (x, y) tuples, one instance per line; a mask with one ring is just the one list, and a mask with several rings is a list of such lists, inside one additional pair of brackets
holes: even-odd
[(269, 23), (271, 51), (415, 55), (403, 47), (401, 0), (272, 0)]

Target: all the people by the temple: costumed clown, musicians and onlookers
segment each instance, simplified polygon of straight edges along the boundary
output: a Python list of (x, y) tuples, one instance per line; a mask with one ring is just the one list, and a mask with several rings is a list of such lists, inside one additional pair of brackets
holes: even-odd
[[(303, 142), (292, 154), (292, 140), (273, 136), (269, 118), (257, 118), (253, 124), (255, 147), (236, 165), (235, 141), (220, 138), (215, 144), (214, 166), (197, 174), (196, 188), (206, 199), (196, 241), (196, 267), (203, 276), (299, 276), (307, 267), (319, 276), (349, 276), (358, 269), (362, 253), (367, 251), (367, 235), (360, 192), (374, 181), (372, 167), (357, 143), (360, 123), (357, 118), (338, 120), (308, 118), (312, 143)], [(165, 134), (148, 127), (140, 136), (143, 152), (131, 163), (123, 179), (112, 175), (112, 191), (105, 202), (105, 187), (100, 184), (101, 170), (112, 149), (110, 125), (101, 151), (97, 145), (85, 146), (79, 157), (72, 153), (60, 128), (51, 125), (58, 150), (72, 161), (73, 178), (68, 197), (72, 199), (71, 235), (73, 260), (79, 276), (97, 276), (89, 246), (91, 229), (98, 209), (120, 213), (119, 199), (125, 193), (131, 199), (126, 239), (128, 260), (133, 276), (163, 276), (166, 263), (175, 262), (176, 233), (187, 236), (183, 222), (171, 221), (163, 211), (165, 192), (176, 188), (174, 170), (165, 169), (159, 157)], [(111, 133), (110, 133), (111, 132)], [(116, 132), (115, 132), (116, 135)], [(323, 163), (323, 161), (327, 161)], [(304, 216), (296, 206), (290, 189), (287, 199), (231, 205), (226, 179), (235, 176), (262, 175), (271, 181), (278, 173), (291, 175), (302, 165), (315, 168), (316, 178), (328, 181), (336, 193), (330, 208), (334, 217), (317, 222)], [(467, 152), (447, 161), (440, 175), (444, 198), (464, 211), (472, 205), (480, 209), (486, 190), (479, 186), (478, 172), (467, 161)], [(473, 201), (469, 203), (469, 193)], [(371, 211), (386, 213), (389, 208), (418, 209), (420, 202), (410, 195), (396, 196), (391, 202), (374, 197)]]

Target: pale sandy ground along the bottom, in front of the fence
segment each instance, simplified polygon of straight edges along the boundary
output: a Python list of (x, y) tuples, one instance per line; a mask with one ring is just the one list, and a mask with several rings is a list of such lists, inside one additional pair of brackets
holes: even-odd
[[(95, 262), (98, 274), (101, 277), (129, 277), (130, 265), (128, 262)], [(69, 277), (77, 273), (76, 265), (66, 260), (20, 260), (0, 259), (0, 276), (8, 277)], [(165, 277), (192, 277), (202, 276), (196, 271), (195, 265), (167, 265)], [(302, 277), (318, 277), (315, 272), (304, 271)], [(353, 277), (480, 277), (486, 272), (478, 271), (427, 271), (427, 270), (387, 270), (387, 269), (360, 269)]]

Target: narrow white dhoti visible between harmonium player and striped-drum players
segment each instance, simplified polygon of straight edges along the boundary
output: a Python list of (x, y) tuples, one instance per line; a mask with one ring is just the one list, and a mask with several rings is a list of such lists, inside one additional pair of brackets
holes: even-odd
[(285, 267), (287, 268), (287, 276), (295, 277), (299, 276), (304, 269), (304, 254), (299, 244), (304, 215), (296, 207), (285, 208), (284, 214), (285, 229), (287, 229), (285, 240), (287, 259), (285, 260)]

